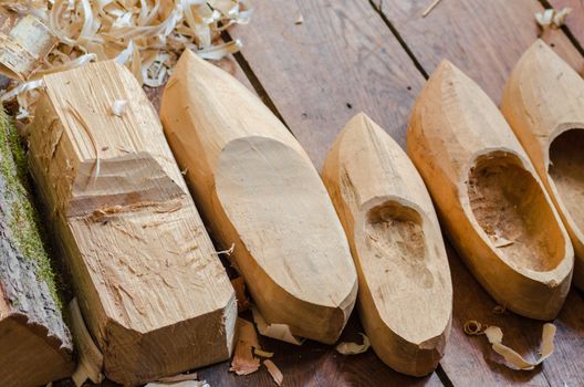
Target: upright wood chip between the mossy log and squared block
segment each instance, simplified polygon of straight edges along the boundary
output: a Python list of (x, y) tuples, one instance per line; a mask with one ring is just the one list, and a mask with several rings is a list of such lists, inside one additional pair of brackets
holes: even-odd
[(71, 378), (77, 387), (81, 387), (87, 379), (94, 384), (101, 384), (104, 379), (102, 374), (103, 355), (85, 326), (77, 299), (73, 299), (69, 305), (69, 312), (71, 317), (71, 333), (75, 339), (80, 358), (77, 368)]

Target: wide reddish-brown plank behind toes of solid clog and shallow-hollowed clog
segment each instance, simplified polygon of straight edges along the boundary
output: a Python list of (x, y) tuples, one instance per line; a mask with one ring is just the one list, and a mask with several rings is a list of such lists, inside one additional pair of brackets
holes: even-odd
[(367, 1), (258, 1), (253, 18), (230, 33), (319, 169), (361, 111), (405, 144), (424, 77)]

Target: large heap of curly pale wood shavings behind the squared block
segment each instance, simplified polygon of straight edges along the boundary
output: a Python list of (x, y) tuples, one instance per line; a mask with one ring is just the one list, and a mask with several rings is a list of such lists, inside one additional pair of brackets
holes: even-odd
[(140, 84), (157, 87), (185, 49), (209, 60), (237, 52), (241, 42), (222, 42), (220, 33), (247, 24), (252, 13), (249, 0), (28, 0), (2, 7), (36, 17), (56, 38), (41, 65), (0, 96), (18, 101), (19, 119), (32, 114), (45, 74), (115, 60)]

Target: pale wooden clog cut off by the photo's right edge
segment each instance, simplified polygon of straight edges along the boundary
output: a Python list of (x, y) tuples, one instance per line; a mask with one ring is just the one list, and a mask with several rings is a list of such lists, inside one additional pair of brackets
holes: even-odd
[(511, 73), (501, 109), (564, 221), (573, 282), (584, 290), (584, 81), (538, 40)]

